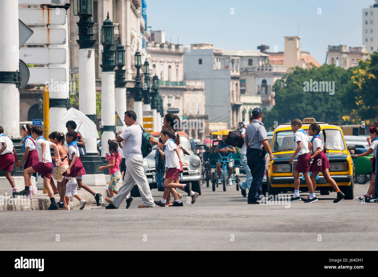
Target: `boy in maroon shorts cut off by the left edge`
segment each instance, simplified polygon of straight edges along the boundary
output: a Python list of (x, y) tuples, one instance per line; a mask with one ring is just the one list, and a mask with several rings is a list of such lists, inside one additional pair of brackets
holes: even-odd
[(17, 152), (10, 138), (4, 135), (4, 128), (0, 126), (0, 170), (5, 171), (5, 177), (12, 186), (13, 193), (17, 190), (12, 178), (14, 161), (17, 161)]

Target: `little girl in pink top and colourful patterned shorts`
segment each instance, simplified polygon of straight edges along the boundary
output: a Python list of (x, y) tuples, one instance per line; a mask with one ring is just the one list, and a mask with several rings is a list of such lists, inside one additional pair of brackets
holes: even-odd
[[(108, 147), (109, 147), (109, 155), (110, 155), (109, 164), (107, 166), (100, 166), (98, 170), (101, 171), (104, 169), (109, 169), (110, 183), (108, 186), (108, 191), (109, 191), (110, 197), (113, 197), (116, 194), (118, 194), (118, 184), (122, 178), (121, 172), (119, 171), (119, 164), (121, 162), (121, 153), (118, 152), (119, 145), (118, 145), (118, 142), (115, 140), (108, 139)], [(130, 197), (129, 195), (127, 195), (125, 200), (127, 203), (126, 209), (129, 209), (131, 202), (133, 201), (133, 197)]]

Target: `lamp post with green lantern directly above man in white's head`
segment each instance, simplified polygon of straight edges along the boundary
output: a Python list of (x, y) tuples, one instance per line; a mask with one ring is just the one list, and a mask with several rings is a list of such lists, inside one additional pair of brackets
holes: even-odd
[(125, 48), (121, 43), (121, 39), (119, 39), (119, 43), (116, 46), (116, 66), (118, 69), (115, 70), (116, 73), (116, 80), (115, 80), (115, 107), (116, 112), (118, 113), (119, 117), (121, 118), (123, 126), (116, 126), (116, 132), (119, 130), (124, 130), (125, 124), (122, 120), (124, 117), (124, 113), (126, 111), (126, 81), (125, 81), (125, 72), (122, 68), (126, 64), (125, 60)]

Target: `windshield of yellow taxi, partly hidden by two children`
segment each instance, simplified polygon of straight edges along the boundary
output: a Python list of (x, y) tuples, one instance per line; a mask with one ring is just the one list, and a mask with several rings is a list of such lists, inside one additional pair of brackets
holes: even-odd
[[(305, 130), (308, 132), (308, 130)], [(328, 150), (345, 150), (344, 140), (342, 139), (342, 134), (340, 130), (326, 129), (326, 142), (325, 146)], [(320, 133), (320, 137), (324, 141), (323, 132)], [(308, 139), (311, 140), (312, 136), (308, 136)], [(296, 144), (294, 142), (293, 132), (282, 131), (276, 132), (274, 135), (272, 152), (278, 151), (292, 151), (295, 150)]]

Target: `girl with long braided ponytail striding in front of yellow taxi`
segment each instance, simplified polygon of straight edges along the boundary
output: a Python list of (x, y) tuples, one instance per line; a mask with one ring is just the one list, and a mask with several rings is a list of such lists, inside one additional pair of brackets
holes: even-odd
[[(344, 193), (341, 192), (339, 187), (337, 186), (335, 180), (333, 180), (330, 176), (330, 173), (328, 171), (328, 167), (330, 167), (330, 163), (328, 162), (328, 158), (325, 155), (325, 152), (327, 151), (325, 145), (323, 146), (323, 141), (321, 137), (319, 136), (320, 131), (322, 130), (323, 132), (323, 137), (324, 137), (324, 143), (325, 143), (325, 130), (322, 126), (320, 126), (318, 123), (313, 123), (308, 127), (308, 135), (312, 136), (312, 139), (310, 141), (311, 145), (311, 151), (312, 151), (312, 156), (311, 160), (314, 159), (314, 161), (311, 164), (310, 167), (310, 172), (311, 172), (311, 182), (312, 182), (312, 187), (315, 191), (316, 189), (316, 176), (318, 173), (321, 171), (325, 181), (331, 184), (333, 189), (336, 191), (337, 196), (336, 199), (333, 200), (333, 203), (338, 203), (342, 198), (344, 198)], [(302, 197), (303, 201), (308, 201), (309, 197)]]

